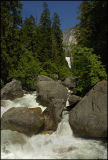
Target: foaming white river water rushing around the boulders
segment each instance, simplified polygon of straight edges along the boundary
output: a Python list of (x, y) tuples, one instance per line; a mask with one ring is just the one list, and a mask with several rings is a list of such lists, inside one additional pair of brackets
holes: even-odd
[[(68, 103), (67, 103), (68, 104)], [(1, 115), (11, 107), (45, 107), (36, 102), (36, 92), (14, 101), (4, 100)], [(1, 159), (106, 159), (107, 147), (102, 141), (76, 138), (70, 128), (69, 113), (64, 111), (57, 130), (49, 135), (27, 137), (16, 131), (1, 131)]]

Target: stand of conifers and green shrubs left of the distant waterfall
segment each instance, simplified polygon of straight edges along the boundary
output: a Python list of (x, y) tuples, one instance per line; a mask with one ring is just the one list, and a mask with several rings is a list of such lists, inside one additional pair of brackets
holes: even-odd
[(71, 74), (62, 46), (57, 13), (50, 18), (47, 3), (39, 24), (31, 15), (22, 21), (20, 1), (1, 1), (1, 85), (12, 78), (35, 89), (38, 74), (63, 80)]

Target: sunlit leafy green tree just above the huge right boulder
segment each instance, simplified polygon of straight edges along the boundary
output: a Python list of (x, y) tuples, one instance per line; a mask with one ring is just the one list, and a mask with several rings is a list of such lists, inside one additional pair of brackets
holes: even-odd
[(73, 49), (73, 74), (78, 77), (75, 93), (85, 95), (97, 82), (107, 79), (105, 68), (100, 57), (93, 53), (92, 48), (77, 45)]

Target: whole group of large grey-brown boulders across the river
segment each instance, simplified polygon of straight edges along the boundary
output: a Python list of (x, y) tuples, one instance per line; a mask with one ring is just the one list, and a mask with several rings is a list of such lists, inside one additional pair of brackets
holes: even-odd
[[(62, 112), (69, 100), (69, 124), (73, 133), (81, 137), (107, 137), (107, 81), (98, 82), (83, 98), (68, 90), (76, 87), (74, 78), (64, 82), (39, 75), (36, 86), (37, 101), (46, 106), (18, 107), (7, 110), (1, 118), (1, 129), (10, 129), (26, 135), (52, 133), (61, 121)], [(1, 90), (1, 99), (14, 99), (23, 95), (21, 82), (13, 80)]]

